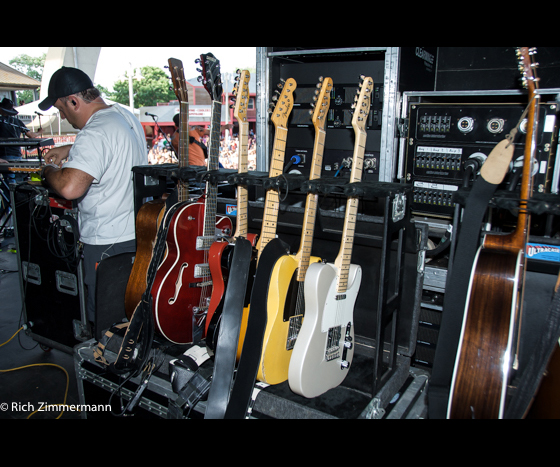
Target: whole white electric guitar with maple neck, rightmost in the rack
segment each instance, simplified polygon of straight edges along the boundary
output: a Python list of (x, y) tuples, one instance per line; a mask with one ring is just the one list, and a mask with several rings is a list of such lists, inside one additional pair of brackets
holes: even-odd
[[(350, 183), (362, 180), (366, 121), (373, 79), (363, 78), (354, 105), (356, 134)], [(314, 263), (305, 277), (305, 319), (296, 341), (288, 381), (296, 394), (313, 398), (339, 386), (354, 357), (354, 305), (362, 269), (351, 264), (358, 198), (348, 198), (342, 245), (334, 264)]]

